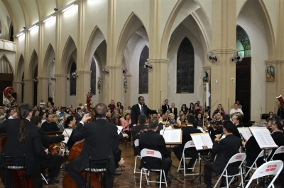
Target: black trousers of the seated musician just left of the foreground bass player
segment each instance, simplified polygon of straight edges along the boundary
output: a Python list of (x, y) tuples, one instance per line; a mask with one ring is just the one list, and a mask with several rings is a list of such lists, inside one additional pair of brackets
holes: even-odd
[(45, 175), (45, 168), (48, 168), (48, 178), (58, 177), (63, 161), (64, 157), (61, 155), (50, 155), (50, 159), (41, 160), (41, 173)]

